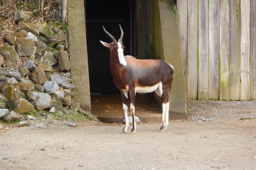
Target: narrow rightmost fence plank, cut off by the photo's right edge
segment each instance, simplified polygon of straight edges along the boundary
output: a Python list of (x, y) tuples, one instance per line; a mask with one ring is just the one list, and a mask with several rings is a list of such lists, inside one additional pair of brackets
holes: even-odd
[(251, 100), (256, 100), (256, 1), (251, 0)]

